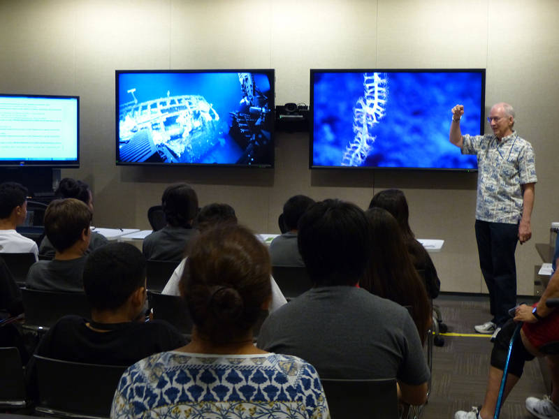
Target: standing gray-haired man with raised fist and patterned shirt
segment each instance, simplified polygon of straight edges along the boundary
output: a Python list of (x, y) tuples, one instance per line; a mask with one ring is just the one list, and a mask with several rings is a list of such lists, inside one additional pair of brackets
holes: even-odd
[(530, 240), (537, 182), (534, 150), (514, 131), (514, 109), (497, 103), (487, 118), (493, 134), (462, 135), (463, 105), (452, 108), (450, 142), (478, 163), (475, 232), (479, 265), (489, 291), (493, 319), (475, 326), (495, 338), (516, 305), (516, 242)]

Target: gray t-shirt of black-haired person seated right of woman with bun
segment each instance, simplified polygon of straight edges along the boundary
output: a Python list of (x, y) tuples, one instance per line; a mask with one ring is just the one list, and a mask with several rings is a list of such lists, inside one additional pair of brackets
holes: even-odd
[(430, 373), (407, 309), (353, 286), (312, 288), (274, 311), (259, 348), (296, 355), (322, 378), (392, 378), (408, 385)]

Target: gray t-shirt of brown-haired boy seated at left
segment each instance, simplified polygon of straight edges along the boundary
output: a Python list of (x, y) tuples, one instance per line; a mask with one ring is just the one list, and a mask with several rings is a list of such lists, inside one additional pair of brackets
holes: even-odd
[(43, 291), (83, 293), (86, 256), (71, 260), (39, 260), (29, 267), (25, 286)]

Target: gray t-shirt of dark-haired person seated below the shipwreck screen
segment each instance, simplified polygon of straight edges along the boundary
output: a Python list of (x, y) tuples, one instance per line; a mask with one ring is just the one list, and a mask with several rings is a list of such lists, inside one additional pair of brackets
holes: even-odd
[(187, 244), (198, 234), (194, 228), (166, 226), (145, 237), (142, 251), (147, 260), (182, 260)]

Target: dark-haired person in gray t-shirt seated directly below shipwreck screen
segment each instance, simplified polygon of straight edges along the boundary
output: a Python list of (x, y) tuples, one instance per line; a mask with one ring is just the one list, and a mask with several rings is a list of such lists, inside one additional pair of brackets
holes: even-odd
[(147, 260), (181, 260), (189, 241), (198, 235), (198, 230), (192, 228), (198, 196), (187, 184), (172, 184), (165, 189), (161, 206), (167, 225), (145, 237), (144, 256)]

